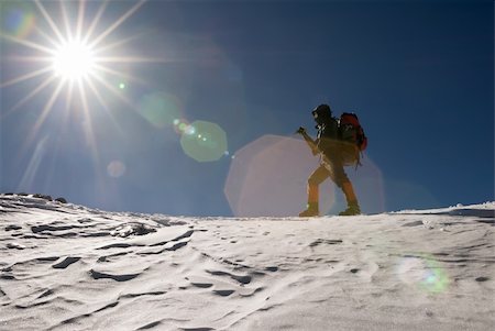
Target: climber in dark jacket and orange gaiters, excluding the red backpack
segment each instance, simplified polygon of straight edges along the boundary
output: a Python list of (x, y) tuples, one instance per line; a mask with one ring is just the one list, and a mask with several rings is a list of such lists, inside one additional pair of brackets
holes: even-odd
[(339, 120), (332, 115), (330, 106), (320, 104), (311, 113), (317, 123), (317, 139), (314, 141), (305, 128), (299, 128), (297, 133), (302, 135), (314, 155), (320, 154), (320, 166), (308, 178), (308, 205), (299, 217), (319, 216), (319, 185), (327, 178), (331, 178), (342, 189), (348, 202), (348, 209), (339, 216), (360, 214), (358, 198), (344, 170), (344, 165), (359, 162), (359, 158), (355, 159), (355, 155), (359, 156), (359, 150), (354, 143), (341, 140)]

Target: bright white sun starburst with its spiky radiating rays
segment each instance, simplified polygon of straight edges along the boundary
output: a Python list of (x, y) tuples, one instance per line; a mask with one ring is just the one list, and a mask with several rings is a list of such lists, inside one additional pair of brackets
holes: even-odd
[[(52, 96), (61, 93), (59, 89), (66, 88), (66, 99), (68, 100), (67, 107), (69, 107), (74, 96), (74, 87), (79, 90), (79, 96), (87, 95), (88, 91), (95, 93), (100, 84), (108, 88), (108, 85), (105, 84), (108, 82), (105, 79), (105, 76), (120, 75), (118, 70), (112, 69), (113, 64), (148, 62), (150, 59), (144, 57), (127, 57), (111, 53), (111, 48), (125, 43), (125, 40), (113, 42), (111, 45), (106, 44), (106, 38), (123, 24), (125, 20), (134, 14), (144, 2), (145, 0), (136, 2), (119, 19), (110, 23), (107, 29), (96, 34), (95, 31), (97, 26), (102, 24), (102, 15), (108, 7), (108, 1), (103, 1), (99, 5), (97, 13), (91, 21), (88, 21), (85, 18), (86, 1), (79, 1), (77, 20), (72, 24), (67, 3), (64, 3), (63, 1), (58, 2), (59, 13), (57, 13), (57, 16), (59, 20), (56, 21), (54, 19), (54, 16), (56, 16), (55, 13), (50, 13), (40, 0), (34, 0), (38, 13), (37, 19), (43, 19), (44, 23), (46, 23), (50, 29), (46, 31), (40, 26), (34, 26), (33, 34), (41, 36), (44, 42), (31, 41), (4, 32), (1, 34), (2, 38), (25, 46), (32, 52), (32, 54), (28, 56), (13, 56), (10, 58), (12, 62), (36, 64), (37, 68), (20, 74), (7, 81), (2, 81), (0, 87), (4, 88), (34, 78), (44, 77), (43, 81), (38, 85), (38, 88), (28, 93), (28, 96), (21, 99), (13, 108), (19, 108), (48, 87), (53, 88)], [(128, 76), (128, 78), (130, 77)], [(61, 80), (63, 81), (62, 86), (59, 85)], [(77, 84), (74, 84), (73, 80), (76, 80)], [(99, 100), (101, 99), (97, 93), (94, 97)], [(50, 98), (46, 104), (53, 99), (53, 97)]]

